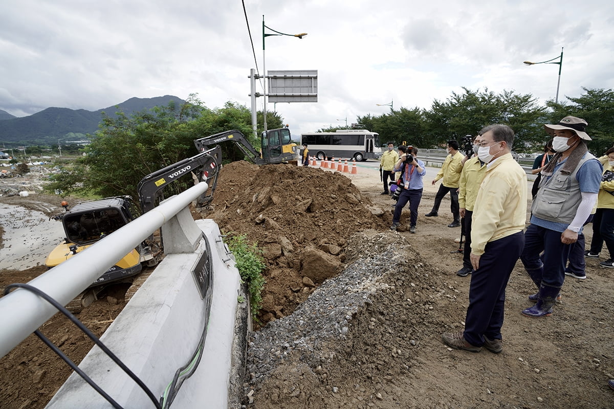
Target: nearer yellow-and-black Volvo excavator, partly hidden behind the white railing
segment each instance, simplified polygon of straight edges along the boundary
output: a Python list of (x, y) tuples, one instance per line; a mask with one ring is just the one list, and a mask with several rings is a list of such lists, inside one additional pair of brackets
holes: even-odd
[[(50, 219), (62, 222), (66, 236), (64, 242), (49, 253), (45, 265), (48, 268), (58, 266), (130, 223), (142, 213), (149, 212), (160, 201), (162, 189), (166, 185), (192, 172), (197, 174), (199, 181), (209, 183), (208, 191), (198, 197), (196, 205), (202, 207), (208, 204), (217, 185), (218, 171), (222, 163), (221, 152), (220, 147), (206, 150), (142, 178), (138, 185), (140, 208), (134, 204), (130, 196), (106, 197), (79, 202), (72, 206), (62, 202), (64, 212), (57, 213)], [(144, 240), (91, 283), (87, 291), (72, 300), (68, 305), (69, 310), (79, 312), (81, 308), (87, 307), (96, 300), (96, 296), (107, 283), (131, 282), (132, 277), (141, 272), (142, 265), (153, 267), (158, 264), (161, 252), (160, 240), (154, 240), (153, 237)]]

